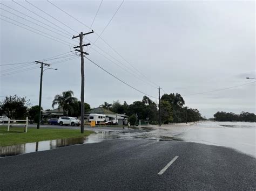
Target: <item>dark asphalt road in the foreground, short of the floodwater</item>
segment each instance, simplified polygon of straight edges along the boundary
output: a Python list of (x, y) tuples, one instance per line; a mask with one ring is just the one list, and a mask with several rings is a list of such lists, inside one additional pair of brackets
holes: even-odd
[(106, 140), (0, 158), (0, 190), (254, 190), (255, 164), (226, 147)]

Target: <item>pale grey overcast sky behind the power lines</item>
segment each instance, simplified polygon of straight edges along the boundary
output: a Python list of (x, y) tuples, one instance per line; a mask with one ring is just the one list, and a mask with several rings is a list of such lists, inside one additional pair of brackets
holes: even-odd
[[(17, 2), (58, 27), (14, 2), (1, 2), (63, 31), (62, 34), (70, 37), (70, 40), (3, 11), (2, 9), (8, 10), (36, 22), (3, 5), (1, 15), (70, 44), (78, 45), (78, 39), (77, 42), (71, 40), (72, 35), (89, 31), (47, 1), (30, 2), (73, 30), (25, 1)], [(52, 2), (88, 26), (91, 25), (100, 4), (100, 1)], [(97, 34), (102, 32), (120, 3), (122, 1), (103, 1), (92, 26)], [(9, 20), (3, 16), (2, 19)], [(13, 20), (9, 21), (15, 23)], [(40, 60), (73, 50), (72, 45), (70, 48), (3, 20), (0, 22), (0, 65)], [(97, 39), (95, 33), (86, 37), (90, 41)], [(161, 94), (180, 93), (188, 107), (197, 108), (206, 117), (212, 117), (217, 111), (255, 112), (255, 83), (197, 94), (253, 82), (246, 77), (255, 77), (254, 1), (125, 1), (102, 34), (102, 38), (130, 65), (101, 39), (89, 47), (88, 58), (146, 94), (158, 97), (157, 84), (164, 90)], [(89, 41), (84, 39), (84, 43), (87, 42)], [(107, 56), (116, 65), (95, 50)], [(45, 62), (56, 61), (58, 60)], [(40, 68), (38, 66), (33, 70), (25, 70), (33, 66), (37, 65), (0, 66), (1, 100), (3, 96), (17, 94), (26, 96), (33, 105), (38, 105)], [(14, 67), (21, 68), (15, 70)], [(80, 97), (79, 57), (56, 63), (52, 68), (58, 70), (49, 69), (43, 75), (43, 109), (51, 109), (53, 97), (62, 91), (72, 90), (75, 97)], [(20, 73), (15, 73), (17, 71)], [(15, 74), (10, 74), (12, 72)], [(112, 103), (116, 100), (131, 104), (133, 101), (142, 100), (142, 97), (142, 93), (117, 81), (85, 59), (85, 102), (91, 107), (98, 107), (104, 101)], [(156, 98), (152, 100), (157, 102)]]

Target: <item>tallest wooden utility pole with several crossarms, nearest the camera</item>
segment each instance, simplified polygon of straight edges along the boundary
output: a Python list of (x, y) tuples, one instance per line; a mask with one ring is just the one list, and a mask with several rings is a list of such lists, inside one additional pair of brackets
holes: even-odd
[(90, 43), (83, 45), (83, 36), (91, 33), (93, 33), (93, 31), (87, 32), (85, 34), (81, 32), (78, 36), (72, 37), (72, 39), (79, 37), (79, 46), (75, 46), (73, 48), (80, 48), (80, 50), (75, 49), (75, 51), (80, 52), (81, 55), (81, 133), (84, 133), (84, 54), (89, 55), (83, 51), (83, 47), (91, 45)]

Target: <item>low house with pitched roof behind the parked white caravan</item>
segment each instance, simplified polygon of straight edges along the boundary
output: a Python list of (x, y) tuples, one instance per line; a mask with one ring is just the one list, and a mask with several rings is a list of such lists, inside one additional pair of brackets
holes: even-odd
[(106, 116), (106, 121), (112, 121), (114, 124), (127, 125), (128, 116), (125, 114), (115, 114), (114, 112), (107, 110), (103, 107), (98, 107), (85, 112), (84, 119), (89, 120), (90, 114), (101, 114)]

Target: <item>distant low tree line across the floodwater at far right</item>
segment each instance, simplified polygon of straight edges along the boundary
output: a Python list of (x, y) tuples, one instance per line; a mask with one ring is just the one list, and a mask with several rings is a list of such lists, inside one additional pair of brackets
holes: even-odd
[(240, 114), (218, 111), (213, 116), (214, 120), (218, 122), (256, 122), (255, 114), (244, 111), (242, 111)]

